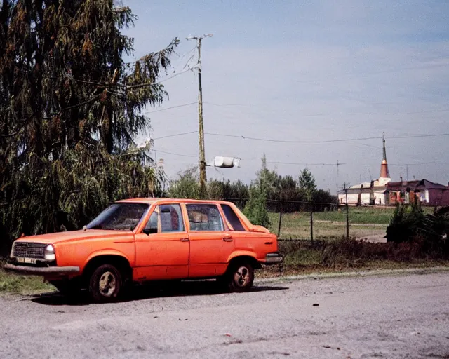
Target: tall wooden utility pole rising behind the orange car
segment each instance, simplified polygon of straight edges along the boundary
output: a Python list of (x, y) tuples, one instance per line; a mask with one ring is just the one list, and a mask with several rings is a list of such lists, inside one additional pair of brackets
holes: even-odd
[(189, 36), (187, 40), (196, 40), (198, 48), (198, 119), (199, 119), (199, 187), (201, 197), (206, 196), (206, 154), (204, 150), (204, 123), (203, 123), (203, 88), (201, 87), (201, 41), (205, 37), (212, 37), (212, 34), (204, 34), (203, 36)]

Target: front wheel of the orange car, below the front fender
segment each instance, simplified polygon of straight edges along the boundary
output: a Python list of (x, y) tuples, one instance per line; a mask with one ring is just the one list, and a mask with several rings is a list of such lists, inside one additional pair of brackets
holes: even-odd
[(89, 293), (97, 303), (114, 302), (121, 293), (121, 287), (121, 273), (112, 264), (99, 266), (89, 280)]

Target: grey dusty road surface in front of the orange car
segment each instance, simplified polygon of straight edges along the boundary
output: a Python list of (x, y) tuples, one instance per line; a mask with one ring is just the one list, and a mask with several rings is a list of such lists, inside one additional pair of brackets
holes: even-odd
[[(318, 304), (318, 305), (316, 305)], [(449, 273), (0, 297), (0, 358), (449, 358)]]

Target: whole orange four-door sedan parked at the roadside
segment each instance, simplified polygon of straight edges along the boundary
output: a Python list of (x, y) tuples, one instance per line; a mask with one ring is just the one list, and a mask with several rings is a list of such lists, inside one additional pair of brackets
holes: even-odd
[(128, 283), (217, 278), (233, 292), (254, 269), (283, 261), (276, 235), (225, 201), (134, 198), (110, 205), (81, 231), (22, 237), (4, 269), (43, 276), (60, 292), (88, 288), (96, 302)]

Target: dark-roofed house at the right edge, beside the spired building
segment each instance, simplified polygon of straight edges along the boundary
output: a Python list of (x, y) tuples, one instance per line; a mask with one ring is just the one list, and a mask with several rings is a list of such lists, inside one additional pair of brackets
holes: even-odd
[(387, 193), (391, 205), (417, 202), (423, 205), (449, 205), (449, 187), (427, 179), (389, 182)]

